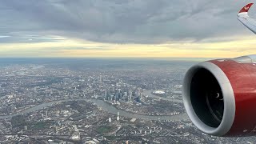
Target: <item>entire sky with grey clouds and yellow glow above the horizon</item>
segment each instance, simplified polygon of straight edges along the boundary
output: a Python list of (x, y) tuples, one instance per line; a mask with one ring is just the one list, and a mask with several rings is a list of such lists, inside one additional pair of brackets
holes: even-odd
[[(247, 0), (0, 0), (2, 58), (234, 58), (256, 54)], [(250, 16), (256, 18), (256, 5)]]

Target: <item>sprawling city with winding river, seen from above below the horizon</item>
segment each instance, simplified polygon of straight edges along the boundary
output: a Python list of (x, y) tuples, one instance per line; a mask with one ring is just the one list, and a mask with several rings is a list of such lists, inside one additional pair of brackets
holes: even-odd
[(182, 79), (196, 62), (38, 59), (0, 65), (2, 143), (255, 141), (210, 137), (190, 121)]

